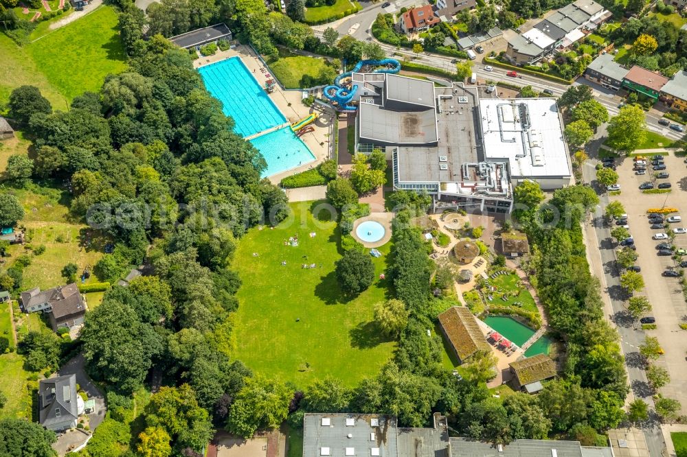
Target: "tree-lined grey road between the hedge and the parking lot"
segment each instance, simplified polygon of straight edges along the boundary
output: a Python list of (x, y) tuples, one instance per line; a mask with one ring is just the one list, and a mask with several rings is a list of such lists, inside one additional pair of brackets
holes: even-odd
[[(596, 179), (594, 163), (586, 163), (583, 168), (586, 183)], [(611, 239), (611, 226), (604, 222), (604, 213), (609, 198), (606, 193), (599, 195), (598, 211), (588, 222), (587, 249), (592, 259), (592, 268), (601, 281), (602, 295), (605, 303), (610, 305), (607, 318), (616, 325), (620, 334), (620, 349), (625, 358), (628, 382), (633, 397), (640, 397), (653, 408), (653, 391), (646, 382), (644, 362), (638, 347), (644, 342), (645, 334), (640, 325), (635, 325), (625, 308), (625, 294), (620, 287), (620, 272), (616, 268), (615, 242)], [(596, 248), (596, 249), (595, 249)], [(666, 444), (659, 423), (651, 421), (642, 427), (649, 454), (652, 457), (662, 456)]]

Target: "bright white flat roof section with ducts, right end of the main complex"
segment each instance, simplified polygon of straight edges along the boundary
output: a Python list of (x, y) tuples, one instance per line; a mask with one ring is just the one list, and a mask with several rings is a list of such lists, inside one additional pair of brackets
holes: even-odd
[(482, 99), (480, 120), (485, 159), (508, 163), (513, 185), (528, 179), (542, 189), (570, 185), (572, 164), (556, 99)]

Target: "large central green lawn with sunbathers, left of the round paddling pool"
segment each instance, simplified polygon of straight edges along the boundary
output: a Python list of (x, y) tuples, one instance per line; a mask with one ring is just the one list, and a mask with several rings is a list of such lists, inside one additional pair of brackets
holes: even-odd
[[(387, 269), (390, 243), (373, 259), (370, 288), (352, 299), (343, 296), (334, 272), (341, 257), (336, 224), (313, 218), (311, 203), (292, 204), (294, 218), (275, 229), (252, 229), (240, 241), (234, 266), (243, 286), (234, 316), (234, 356), (298, 388), (325, 375), (353, 386), (377, 373), (396, 347), (372, 320), (372, 305), (388, 296), (387, 280), (379, 274)], [(317, 235), (308, 236), (313, 231)], [(295, 234), (300, 245), (284, 246)], [(302, 263), (317, 267), (304, 269)]]

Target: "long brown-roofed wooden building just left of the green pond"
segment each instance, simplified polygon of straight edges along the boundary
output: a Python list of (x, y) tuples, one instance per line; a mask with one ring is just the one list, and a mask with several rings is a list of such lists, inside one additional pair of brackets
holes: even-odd
[(441, 331), (460, 363), (466, 362), (477, 351), (491, 351), (484, 333), (470, 309), (453, 306), (439, 314)]

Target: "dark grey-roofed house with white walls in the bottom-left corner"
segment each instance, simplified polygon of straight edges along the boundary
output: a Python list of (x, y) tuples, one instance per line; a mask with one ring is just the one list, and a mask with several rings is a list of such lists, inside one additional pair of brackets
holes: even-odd
[(38, 423), (56, 432), (76, 427), (80, 399), (76, 375), (43, 379), (38, 383)]

